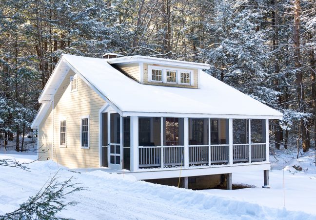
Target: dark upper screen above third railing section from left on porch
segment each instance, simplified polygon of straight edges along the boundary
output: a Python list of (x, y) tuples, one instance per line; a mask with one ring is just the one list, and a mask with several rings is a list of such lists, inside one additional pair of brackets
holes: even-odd
[(189, 119), (189, 145), (208, 144), (208, 119)]

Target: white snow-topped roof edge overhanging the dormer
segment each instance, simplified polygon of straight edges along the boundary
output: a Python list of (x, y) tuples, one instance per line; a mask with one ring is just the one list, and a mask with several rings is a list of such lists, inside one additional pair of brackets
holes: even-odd
[(129, 56), (107, 59), (109, 64), (132, 64), (132, 63), (150, 63), (150, 64), (162, 64), (170, 66), (191, 67), (197, 69), (209, 69), (209, 64), (194, 63), (188, 61), (170, 60), (157, 57), (145, 57), (145, 56)]

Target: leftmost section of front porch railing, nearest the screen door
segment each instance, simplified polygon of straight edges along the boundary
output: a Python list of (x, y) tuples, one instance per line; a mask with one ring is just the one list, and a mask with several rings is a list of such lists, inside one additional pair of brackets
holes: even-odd
[(139, 168), (158, 168), (161, 166), (161, 147), (138, 147)]

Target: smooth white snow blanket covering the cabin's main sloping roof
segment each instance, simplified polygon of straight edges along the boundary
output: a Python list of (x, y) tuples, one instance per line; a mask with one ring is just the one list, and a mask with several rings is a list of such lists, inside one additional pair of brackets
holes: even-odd
[(125, 76), (105, 59), (68, 54), (62, 58), (124, 112), (282, 116), (203, 71), (198, 89), (151, 86)]

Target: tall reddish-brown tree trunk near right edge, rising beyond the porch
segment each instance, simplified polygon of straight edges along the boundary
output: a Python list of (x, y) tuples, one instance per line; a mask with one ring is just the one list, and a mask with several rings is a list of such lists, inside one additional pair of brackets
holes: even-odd
[[(303, 73), (301, 71), (301, 53), (300, 53), (300, 36), (299, 36), (299, 16), (300, 16), (300, 0), (295, 0), (294, 2), (294, 59), (296, 67), (296, 87), (298, 96), (298, 107), (300, 112), (305, 112), (305, 91), (303, 84)], [(302, 130), (302, 147), (303, 152), (307, 152), (310, 148), (308, 122), (304, 119), (301, 120), (301, 130)]]

